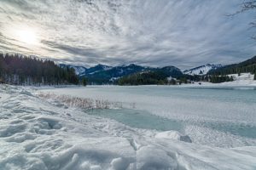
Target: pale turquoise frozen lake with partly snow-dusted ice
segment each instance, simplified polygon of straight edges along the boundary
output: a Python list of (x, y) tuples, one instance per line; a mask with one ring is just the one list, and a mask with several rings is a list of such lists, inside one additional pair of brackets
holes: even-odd
[(86, 112), (130, 127), (175, 130), (197, 144), (256, 145), (253, 87), (90, 86), (44, 91), (121, 102), (123, 109)]

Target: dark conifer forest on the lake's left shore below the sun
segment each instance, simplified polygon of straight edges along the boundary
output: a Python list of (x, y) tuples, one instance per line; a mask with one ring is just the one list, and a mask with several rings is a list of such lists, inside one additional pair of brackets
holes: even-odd
[(78, 84), (72, 68), (61, 68), (54, 61), (19, 54), (0, 54), (0, 82), (15, 85)]

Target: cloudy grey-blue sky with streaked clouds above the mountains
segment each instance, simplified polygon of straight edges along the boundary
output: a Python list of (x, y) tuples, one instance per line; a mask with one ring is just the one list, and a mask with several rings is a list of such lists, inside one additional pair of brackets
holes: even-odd
[(231, 64), (256, 54), (242, 0), (0, 0), (0, 51), (91, 66)]

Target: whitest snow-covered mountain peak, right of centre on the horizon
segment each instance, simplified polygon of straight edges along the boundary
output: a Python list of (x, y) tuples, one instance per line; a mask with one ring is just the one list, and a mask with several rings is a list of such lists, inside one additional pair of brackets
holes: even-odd
[(211, 71), (212, 69), (218, 69), (220, 67), (223, 67), (223, 65), (212, 65), (212, 64), (207, 64), (207, 65), (201, 65), (198, 67), (195, 67), (193, 69), (189, 69), (186, 71), (183, 71), (183, 74), (187, 74), (187, 75), (206, 75), (209, 71)]

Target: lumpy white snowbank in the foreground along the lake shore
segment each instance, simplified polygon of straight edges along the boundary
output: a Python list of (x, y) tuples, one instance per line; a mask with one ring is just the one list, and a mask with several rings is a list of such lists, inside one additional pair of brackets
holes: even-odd
[(0, 169), (255, 169), (256, 147), (183, 142), (0, 85)]

